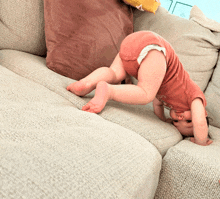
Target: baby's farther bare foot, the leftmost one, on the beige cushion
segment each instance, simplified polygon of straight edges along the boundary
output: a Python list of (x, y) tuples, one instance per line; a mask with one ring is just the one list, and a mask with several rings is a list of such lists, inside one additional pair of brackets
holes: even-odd
[(82, 81), (74, 82), (67, 86), (66, 89), (78, 96), (84, 96), (93, 90), (91, 85)]

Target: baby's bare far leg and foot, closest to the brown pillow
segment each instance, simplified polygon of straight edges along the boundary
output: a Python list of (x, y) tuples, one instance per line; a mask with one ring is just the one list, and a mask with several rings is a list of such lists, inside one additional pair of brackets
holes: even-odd
[(110, 84), (118, 84), (126, 77), (119, 55), (116, 56), (114, 62), (108, 67), (98, 68), (91, 74), (67, 86), (67, 90), (78, 95), (84, 96), (96, 88), (100, 81), (106, 81)]

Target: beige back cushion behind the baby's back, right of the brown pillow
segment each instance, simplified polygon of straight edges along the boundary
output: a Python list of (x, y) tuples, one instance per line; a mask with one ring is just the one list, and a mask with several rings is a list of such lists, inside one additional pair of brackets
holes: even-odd
[(190, 77), (205, 90), (217, 62), (218, 34), (194, 20), (172, 15), (163, 7), (155, 15), (135, 10), (134, 30), (151, 30), (170, 42)]

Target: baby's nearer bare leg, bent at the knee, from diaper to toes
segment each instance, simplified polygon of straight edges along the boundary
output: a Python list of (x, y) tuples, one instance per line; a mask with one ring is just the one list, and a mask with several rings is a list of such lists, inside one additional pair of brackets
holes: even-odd
[(82, 110), (99, 113), (108, 100), (127, 104), (147, 104), (155, 98), (166, 72), (164, 55), (152, 50), (149, 52), (138, 71), (136, 85), (110, 85), (104, 81), (97, 84), (95, 97)]

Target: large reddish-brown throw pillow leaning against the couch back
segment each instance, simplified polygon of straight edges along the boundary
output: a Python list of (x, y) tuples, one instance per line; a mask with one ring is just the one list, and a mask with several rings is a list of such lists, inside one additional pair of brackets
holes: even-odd
[(131, 8), (119, 0), (45, 0), (47, 67), (79, 80), (110, 66), (133, 32)]

